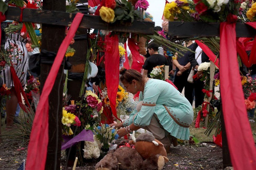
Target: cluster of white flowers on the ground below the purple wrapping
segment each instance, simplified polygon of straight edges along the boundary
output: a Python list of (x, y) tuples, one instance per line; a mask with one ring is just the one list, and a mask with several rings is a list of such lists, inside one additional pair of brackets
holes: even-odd
[(99, 140), (93, 135), (94, 142), (84, 141), (84, 158), (97, 159), (100, 156), (100, 142)]

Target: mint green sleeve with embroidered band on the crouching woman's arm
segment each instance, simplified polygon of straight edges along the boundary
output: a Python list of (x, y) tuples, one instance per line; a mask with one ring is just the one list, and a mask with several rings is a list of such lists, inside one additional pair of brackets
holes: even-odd
[(150, 124), (151, 118), (154, 114), (156, 102), (161, 91), (154, 86), (147, 86), (144, 89), (144, 98), (141, 110), (134, 118), (134, 125), (145, 127)]

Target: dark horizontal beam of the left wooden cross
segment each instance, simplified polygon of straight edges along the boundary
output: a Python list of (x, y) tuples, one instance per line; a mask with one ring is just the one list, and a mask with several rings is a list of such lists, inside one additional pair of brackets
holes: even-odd
[[(8, 7), (5, 13), (7, 20), (20, 21), (21, 10), (18, 7)], [(25, 8), (22, 22), (33, 22), (51, 25), (69, 26), (75, 17), (75, 13), (57, 12), (50, 10), (38, 10)], [(134, 20), (133, 23), (113, 23), (103, 21), (99, 16), (84, 15), (80, 28), (94, 28), (118, 32), (131, 32), (137, 34), (153, 34), (154, 22)]]

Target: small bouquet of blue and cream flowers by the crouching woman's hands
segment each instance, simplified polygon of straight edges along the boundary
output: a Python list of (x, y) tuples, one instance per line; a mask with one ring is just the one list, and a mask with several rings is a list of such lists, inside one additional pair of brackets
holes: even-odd
[(110, 128), (108, 124), (100, 124), (101, 126), (96, 127), (94, 125), (93, 133), (96, 138), (100, 141), (101, 150), (100, 153), (105, 155), (109, 151), (109, 147), (111, 144), (118, 139), (117, 130), (114, 128)]

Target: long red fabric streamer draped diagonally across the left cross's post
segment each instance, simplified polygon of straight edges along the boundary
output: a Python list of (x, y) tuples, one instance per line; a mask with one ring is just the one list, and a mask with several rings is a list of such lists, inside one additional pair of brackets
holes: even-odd
[(83, 14), (77, 13), (70, 29), (68, 30), (67, 36), (62, 41), (60, 48), (57, 52), (54, 63), (52, 64), (51, 70), (44, 84), (40, 101), (38, 103), (36, 114), (33, 122), (33, 127), (30, 134), (30, 141), (28, 145), (28, 156), (26, 161), (26, 170), (44, 170), (46, 162), (46, 153), (48, 145), (48, 117), (49, 117), (49, 103), (48, 97), (53, 88), (58, 70), (63, 61), (66, 50), (73, 39), (76, 30), (83, 18)]

